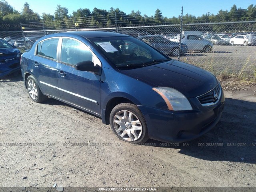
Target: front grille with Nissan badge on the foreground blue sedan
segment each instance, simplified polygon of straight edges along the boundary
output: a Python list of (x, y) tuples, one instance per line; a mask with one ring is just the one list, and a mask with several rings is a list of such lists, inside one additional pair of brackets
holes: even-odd
[(203, 106), (207, 106), (207, 105), (213, 105), (216, 102), (218, 102), (218, 100), (220, 99), (220, 96), (221, 96), (221, 88), (220, 88), (220, 84), (218, 84), (212, 90), (208, 91), (207, 93), (201, 96), (198, 96), (197, 98)]

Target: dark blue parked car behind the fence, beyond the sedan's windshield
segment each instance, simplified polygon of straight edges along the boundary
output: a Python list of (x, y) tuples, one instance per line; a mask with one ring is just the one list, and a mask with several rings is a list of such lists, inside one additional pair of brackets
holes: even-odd
[[(166, 55), (172, 55), (178, 57), (180, 54), (180, 44), (177, 42), (170, 41), (159, 35), (147, 35), (140, 36), (138, 39), (150, 44), (152, 47), (161, 51)], [(188, 52), (188, 46), (184, 43), (181, 44), (181, 54)]]

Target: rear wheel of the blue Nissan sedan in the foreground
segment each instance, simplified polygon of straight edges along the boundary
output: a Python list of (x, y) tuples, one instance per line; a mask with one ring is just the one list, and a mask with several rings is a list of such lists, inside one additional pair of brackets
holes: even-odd
[(28, 76), (26, 85), (27, 85), (28, 94), (34, 102), (40, 103), (45, 101), (48, 98), (48, 96), (45, 96), (44, 94), (42, 94), (34, 76), (32, 75)]

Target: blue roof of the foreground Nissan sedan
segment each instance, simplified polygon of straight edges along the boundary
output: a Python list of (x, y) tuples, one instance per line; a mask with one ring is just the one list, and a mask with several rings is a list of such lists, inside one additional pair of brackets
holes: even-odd
[(67, 37), (74, 37), (74, 38), (77, 36), (82, 36), (84, 38), (98, 38), (98, 37), (120, 37), (120, 36), (128, 36), (128, 35), (113, 33), (113, 32), (102, 32), (102, 31), (73, 31), (73, 32), (50, 34), (45, 36), (45, 38), (59, 37), (59, 36), (67, 36)]

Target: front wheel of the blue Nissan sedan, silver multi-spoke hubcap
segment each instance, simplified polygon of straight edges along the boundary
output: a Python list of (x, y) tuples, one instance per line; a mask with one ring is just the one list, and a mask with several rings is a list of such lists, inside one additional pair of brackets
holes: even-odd
[(120, 140), (134, 144), (148, 140), (146, 121), (134, 104), (121, 103), (115, 106), (110, 113), (110, 125)]

